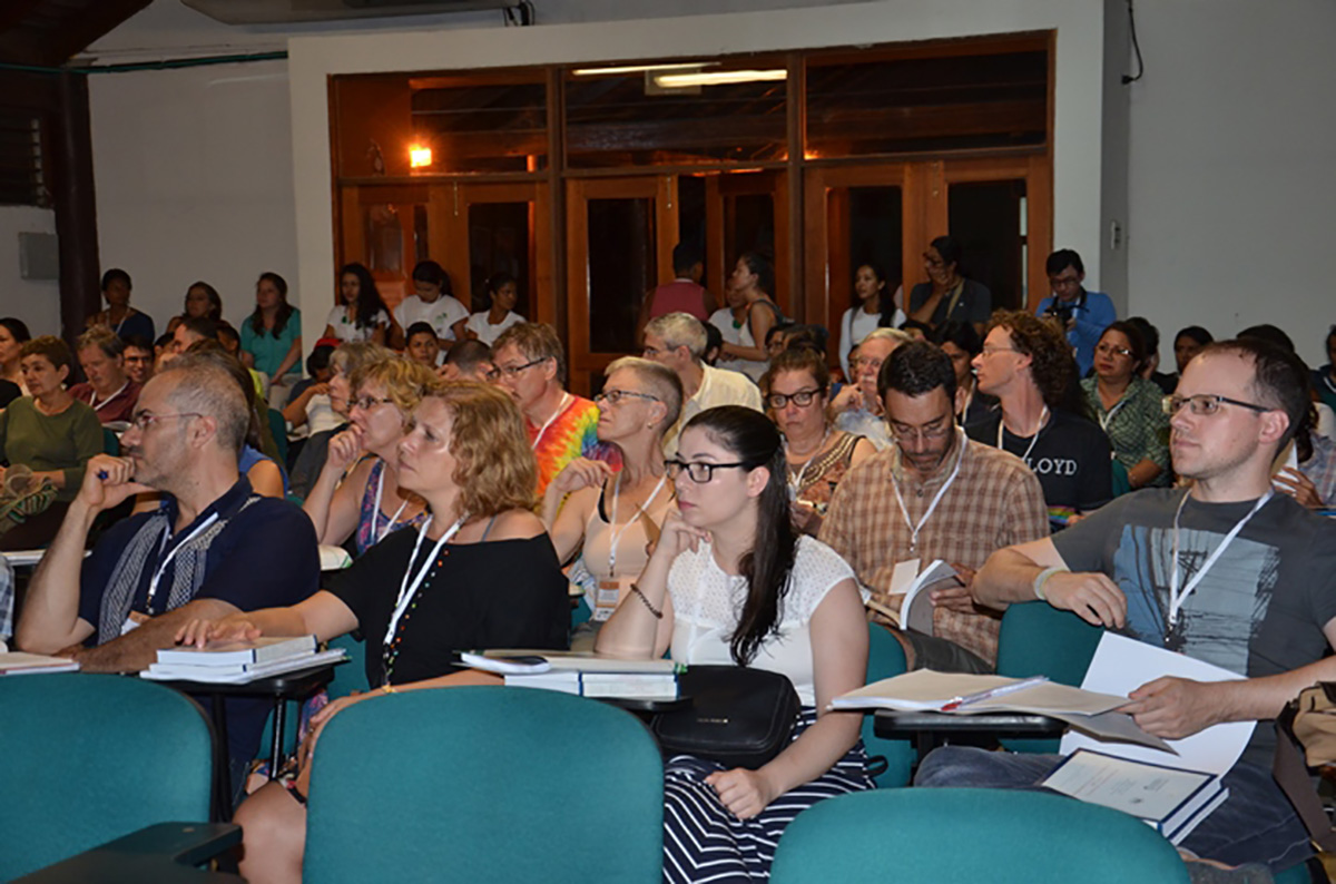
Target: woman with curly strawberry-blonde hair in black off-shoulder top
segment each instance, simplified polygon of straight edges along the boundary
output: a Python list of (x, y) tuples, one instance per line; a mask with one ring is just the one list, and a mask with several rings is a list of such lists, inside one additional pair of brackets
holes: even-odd
[(457, 672), (458, 650), (566, 644), (566, 581), (530, 509), (533, 451), (510, 397), (472, 382), (424, 385), (398, 463), (401, 485), (428, 503), (421, 529), (395, 531), (299, 605), (192, 621), (178, 634), (198, 645), (310, 633), (323, 641), (354, 629), (366, 636), (366, 676), (377, 689), (325, 706), (299, 752), (301, 772), (262, 787), (236, 813), (250, 881), (301, 881), (307, 762), (331, 717), (382, 693), (494, 684)]

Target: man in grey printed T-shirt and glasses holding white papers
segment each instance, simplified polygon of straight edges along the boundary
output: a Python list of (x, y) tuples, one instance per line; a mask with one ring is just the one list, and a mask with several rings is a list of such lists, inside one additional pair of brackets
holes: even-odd
[[(1224, 777), (1228, 800), (1181, 847), (1273, 872), (1312, 848), (1271, 773), (1271, 720), (1301, 689), (1336, 680), (1328, 656), (1336, 522), (1271, 485), (1272, 461), (1307, 407), (1305, 370), (1293, 354), (1264, 341), (1209, 345), (1165, 399), (1173, 465), (1190, 486), (1126, 494), (1051, 538), (998, 550), (971, 588), (983, 605), (1046, 602), (1236, 673), (1240, 680), (1221, 682), (1156, 678), (1133, 690), (1124, 710), (1164, 738), (1257, 722)], [(1058, 761), (939, 749), (918, 784), (1029, 787)]]

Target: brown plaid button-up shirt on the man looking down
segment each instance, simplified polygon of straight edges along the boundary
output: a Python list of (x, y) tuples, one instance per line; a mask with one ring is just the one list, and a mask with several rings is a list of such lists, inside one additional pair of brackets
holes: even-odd
[[(906, 517), (915, 525), (923, 518), (955, 467), (957, 450), (942, 458), (931, 475), (922, 477), (904, 469), (899, 446), (891, 445), (851, 470), (835, 489), (820, 539), (844, 557), (878, 602), (892, 610), (903, 601), (903, 594), (887, 592), (896, 562), (918, 558), (927, 565), (941, 558), (978, 569), (997, 549), (1049, 535), (1043, 490), (1021, 458), (974, 441), (965, 446), (961, 473), (923, 523), (914, 550)], [(907, 513), (896, 499), (896, 482)], [(933, 616), (934, 634), (990, 664), (997, 661), (998, 622), (995, 614), (985, 612), (938, 608)]]

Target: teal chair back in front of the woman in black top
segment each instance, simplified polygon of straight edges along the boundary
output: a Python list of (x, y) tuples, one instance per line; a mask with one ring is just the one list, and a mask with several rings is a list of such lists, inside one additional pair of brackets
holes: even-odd
[(330, 721), (313, 765), (306, 884), (663, 876), (663, 758), (611, 705), (526, 688), (375, 697)]

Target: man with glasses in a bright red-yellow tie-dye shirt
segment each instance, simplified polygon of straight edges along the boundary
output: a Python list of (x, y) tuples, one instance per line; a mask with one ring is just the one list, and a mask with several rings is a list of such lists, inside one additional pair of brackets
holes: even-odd
[[(525, 322), (501, 333), (492, 347), (497, 383), (520, 405), (529, 446), (538, 459), (538, 497), (570, 461), (615, 455), (599, 446), (599, 406), (566, 393), (566, 354), (552, 326)], [(612, 459), (609, 459), (609, 457)]]

